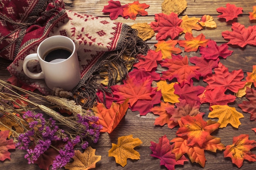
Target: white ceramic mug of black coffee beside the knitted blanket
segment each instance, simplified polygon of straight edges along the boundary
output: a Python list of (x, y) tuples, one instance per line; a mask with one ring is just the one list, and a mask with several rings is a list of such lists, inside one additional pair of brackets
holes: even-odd
[[(51, 53), (56, 49), (65, 49), (70, 52), (66, 54), (67, 58), (63, 59), (60, 55), (61, 52), (57, 51), (56, 54), (55, 51), (53, 55), (57, 57), (52, 61), (45, 61), (47, 53)], [(30, 72), (27, 68), (29, 60), (38, 60), (42, 71), (40, 73)], [(62, 35), (55, 35), (43, 40), (38, 46), (37, 53), (29, 54), (25, 57), (23, 71), (31, 79), (45, 79), (45, 83), (50, 89), (58, 87), (63, 88), (65, 91), (72, 90), (81, 79), (74, 42)]]

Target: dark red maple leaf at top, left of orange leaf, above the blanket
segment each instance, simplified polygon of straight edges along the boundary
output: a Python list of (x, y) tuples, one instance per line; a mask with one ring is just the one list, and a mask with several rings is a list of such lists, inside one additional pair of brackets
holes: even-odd
[[(123, 12), (124, 12), (124, 7), (128, 6), (128, 4), (125, 5), (121, 5), (120, 1), (114, 1), (114, 0), (110, 0), (108, 1), (108, 5), (104, 6), (102, 12), (103, 13), (110, 13), (110, 19), (111, 20), (115, 20), (118, 18), (119, 15), (121, 15), (122, 17), (124, 17)], [(124, 18), (128, 18), (124, 17)]]

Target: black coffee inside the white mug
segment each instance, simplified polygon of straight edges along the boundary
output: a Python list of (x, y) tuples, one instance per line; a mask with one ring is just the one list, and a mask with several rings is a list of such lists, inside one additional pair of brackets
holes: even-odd
[(43, 60), (51, 62), (56, 59), (67, 59), (71, 55), (71, 51), (67, 49), (53, 49), (45, 53)]

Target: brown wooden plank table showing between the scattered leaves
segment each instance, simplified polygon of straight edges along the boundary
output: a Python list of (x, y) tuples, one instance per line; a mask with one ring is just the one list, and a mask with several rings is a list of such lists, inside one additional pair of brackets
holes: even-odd
[[(132, 3), (131, 0), (119, 0), (121, 4)], [(89, 15), (96, 15), (100, 17), (109, 18), (109, 15), (103, 14), (101, 11), (104, 5), (108, 5), (108, 0), (65, 0), (65, 2), (72, 2), (72, 7), (66, 6), (66, 9), (76, 11), (79, 13), (86, 13)], [(136, 20), (123, 19), (119, 17), (117, 22), (124, 22), (128, 25), (139, 22), (153, 22), (155, 13), (161, 13), (161, 4), (163, 0), (139, 0), (140, 3), (149, 4), (150, 7), (146, 9), (148, 16), (137, 16)], [(247, 28), (250, 25), (255, 25), (255, 21), (249, 21), (249, 12), (252, 12), (252, 7), (256, 5), (255, 0), (187, 0), (187, 8), (180, 15), (189, 15), (189, 17), (201, 18), (202, 15), (213, 16), (217, 23), (217, 29), (203, 29), (201, 31), (193, 31), (193, 35), (199, 35), (203, 33), (207, 39), (215, 40), (218, 45), (227, 42), (222, 38), (222, 31), (231, 31), (231, 22), (225, 22), (217, 18), (219, 13), (216, 11), (218, 7), (226, 7), (226, 4), (235, 4), (236, 7), (243, 7), (243, 15), (240, 15), (237, 22), (244, 24)], [(184, 36), (184, 35), (183, 35)], [(182, 38), (182, 37), (181, 37)], [(151, 49), (154, 49), (154, 44), (157, 43), (155, 37), (147, 41)], [(233, 50), (233, 54), (227, 57), (226, 60), (221, 59), (220, 61), (224, 64), (229, 71), (242, 69), (245, 73), (252, 72), (252, 65), (256, 64), (256, 47), (247, 45), (246, 48), (237, 48), (229, 46), (229, 50)], [(200, 56), (197, 53), (182, 53), (182, 55), (188, 55), (188, 57)], [(0, 71), (1, 79), (8, 79), (9, 73), (2, 69)], [(199, 85), (205, 86), (205, 83), (200, 80)], [(246, 100), (245, 97), (237, 98), (236, 102), (230, 104), (231, 107), (236, 107), (236, 110), (243, 113), (238, 107), (242, 101)], [(209, 105), (202, 104), (200, 108), (201, 112), (205, 112), (204, 119), (207, 120), (209, 113)], [(220, 137), (222, 144), (231, 145), (234, 136), (240, 134), (248, 134), (249, 139), (256, 140), (256, 134), (251, 128), (256, 128), (256, 122), (249, 120), (249, 114), (243, 113), (244, 118), (240, 119), (241, 125), (238, 129), (228, 125), (226, 128), (216, 130), (212, 135)], [(164, 166), (159, 165), (159, 159), (151, 157), (152, 151), (150, 150), (150, 141), (155, 143), (159, 142), (159, 137), (166, 135), (168, 139), (176, 137), (176, 131), (178, 127), (169, 129), (167, 125), (163, 127), (155, 126), (156, 115), (148, 113), (146, 116), (139, 116), (138, 112), (131, 112), (128, 110), (126, 116), (121, 120), (117, 128), (111, 133), (102, 133), (97, 144), (94, 144), (92, 148), (96, 149), (96, 155), (101, 155), (101, 161), (96, 164), (97, 170), (165, 170)], [(218, 120), (218, 119), (216, 119)], [(139, 160), (128, 159), (127, 165), (122, 168), (119, 164), (115, 163), (114, 157), (108, 157), (108, 150), (111, 148), (111, 144), (117, 144), (117, 138), (126, 135), (133, 135), (134, 138), (139, 138), (143, 144), (136, 147), (135, 150), (139, 152)], [(252, 149), (256, 153), (256, 149)], [(37, 165), (28, 165), (27, 160), (24, 159), (25, 152), (16, 149), (11, 151), (11, 160), (0, 162), (1, 170), (40, 170)], [(236, 165), (231, 163), (230, 158), (224, 158), (223, 152), (218, 151), (217, 153), (205, 151), (205, 157), (207, 159), (204, 169), (211, 170), (236, 170)], [(188, 158), (188, 157), (187, 157)], [(256, 162), (251, 163), (248, 161), (243, 162), (241, 170), (254, 170), (256, 168)], [(200, 170), (203, 169), (198, 163), (186, 162), (184, 166), (175, 166), (175, 169), (184, 170)]]

